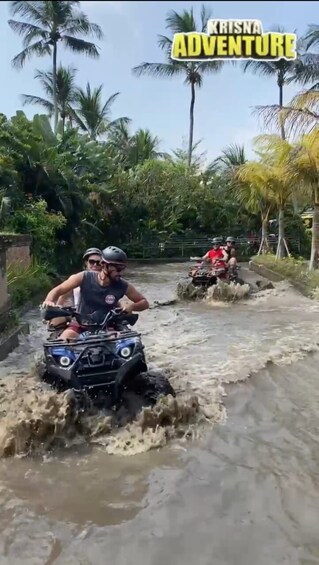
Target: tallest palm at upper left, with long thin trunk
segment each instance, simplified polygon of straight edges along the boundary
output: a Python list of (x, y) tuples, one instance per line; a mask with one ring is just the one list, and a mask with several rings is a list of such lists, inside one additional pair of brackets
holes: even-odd
[[(24, 49), (12, 61), (14, 67), (22, 68), (26, 60), (37, 55), (52, 56), (52, 82), (54, 129), (58, 125), (57, 102), (57, 50), (59, 41), (75, 53), (98, 57), (99, 52), (94, 43), (82, 37), (89, 35), (102, 39), (103, 33), (99, 25), (90, 23), (88, 17), (78, 9), (80, 2), (62, 0), (42, 0), (26, 2), (16, 0), (10, 2), (11, 14), (21, 16), (26, 21), (10, 19), (13, 31), (23, 37)], [(82, 36), (82, 37), (81, 37)]]

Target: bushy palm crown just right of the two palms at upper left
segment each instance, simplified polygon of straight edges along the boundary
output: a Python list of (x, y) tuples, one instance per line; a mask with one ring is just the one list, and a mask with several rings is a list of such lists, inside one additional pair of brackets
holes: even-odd
[(87, 83), (86, 89), (78, 88), (75, 95), (77, 102), (77, 108), (74, 110), (75, 119), (80, 128), (92, 139), (97, 139), (118, 123), (127, 124), (130, 121), (127, 117), (110, 120), (111, 106), (120, 93), (112, 94), (103, 104), (102, 89), (103, 84), (91, 89), (91, 85)]

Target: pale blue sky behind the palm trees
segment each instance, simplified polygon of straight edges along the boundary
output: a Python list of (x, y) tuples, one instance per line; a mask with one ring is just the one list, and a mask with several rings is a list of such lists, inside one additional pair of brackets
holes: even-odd
[[(78, 69), (77, 82), (85, 86), (104, 85), (105, 98), (120, 92), (113, 105), (112, 117), (128, 116), (132, 129), (149, 128), (161, 140), (162, 150), (184, 146), (188, 135), (190, 92), (181, 77), (172, 80), (136, 78), (132, 67), (141, 62), (163, 61), (157, 47), (157, 34), (165, 33), (165, 17), (169, 10), (181, 11), (201, 2), (138, 1), (81, 2), (91, 21), (99, 23), (105, 38), (99, 42), (99, 60), (64, 52), (59, 59), (64, 65)], [(206, 2), (216, 18), (256, 18), (264, 29), (279, 24), (286, 31), (297, 30), (302, 35), (308, 24), (316, 21), (317, 2)], [(50, 59), (32, 59), (21, 71), (11, 66), (11, 59), (22, 49), (21, 39), (9, 28), (9, 2), (0, 3), (0, 63), (2, 89), (0, 112), (11, 116), (21, 108), (22, 93), (42, 95), (35, 69), (48, 70)], [(300, 90), (286, 87), (285, 100)], [(218, 75), (205, 77), (197, 91), (195, 106), (195, 141), (202, 139), (200, 151), (210, 160), (231, 143), (244, 144), (251, 156), (251, 140), (261, 132), (261, 124), (252, 115), (252, 108), (260, 104), (276, 103), (278, 89), (275, 79), (243, 74), (239, 68), (224, 68)], [(25, 107), (28, 116), (40, 111)]]

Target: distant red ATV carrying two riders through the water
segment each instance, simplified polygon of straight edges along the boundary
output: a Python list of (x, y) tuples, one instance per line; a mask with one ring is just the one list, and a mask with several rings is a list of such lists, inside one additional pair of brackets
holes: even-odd
[(190, 267), (188, 276), (192, 279), (194, 286), (210, 287), (222, 282), (240, 283), (238, 278), (239, 267), (228, 266), (225, 261), (218, 260), (215, 265), (203, 261), (200, 257), (191, 257), (191, 261), (197, 261), (197, 265)]

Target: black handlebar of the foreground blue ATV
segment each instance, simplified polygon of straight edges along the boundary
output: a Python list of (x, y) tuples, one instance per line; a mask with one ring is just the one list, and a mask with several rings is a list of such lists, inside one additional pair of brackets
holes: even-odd
[[(134, 326), (139, 317), (138, 314), (126, 313), (122, 308), (115, 308), (114, 310), (110, 310), (105, 316), (103, 315), (103, 313), (96, 311), (87, 317), (81, 316), (81, 314), (76, 311), (76, 308), (72, 306), (46, 306), (45, 308), (43, 308), (43, 310), (43, 319), (46, 322), (49, 322), (54, 318), (71, 317), (74, 318), (81, 326), (88, 326), (88, 328), (96, 329), (103, 329), (104, 327), (114, 322), (120, 322), (122, 324)], [(102, 316), (104, 317), (102, 318)]]

